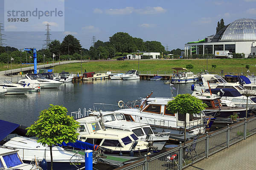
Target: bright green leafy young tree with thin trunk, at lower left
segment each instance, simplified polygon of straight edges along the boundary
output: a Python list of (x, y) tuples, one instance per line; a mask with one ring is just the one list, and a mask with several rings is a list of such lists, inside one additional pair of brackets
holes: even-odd
[(79, 123), (73, 117), (67, 116), (67, 109), (62, 106), (50, 105), (48, 109), (41, 111), (39, 119), (28, 129), (27, 135), (38, 137), (37, 142), (47, 144), (50, 147), (51, 169), (52, 145), (62, 144), (62, 142), (76, 142), (79, 136), (77, 128)]

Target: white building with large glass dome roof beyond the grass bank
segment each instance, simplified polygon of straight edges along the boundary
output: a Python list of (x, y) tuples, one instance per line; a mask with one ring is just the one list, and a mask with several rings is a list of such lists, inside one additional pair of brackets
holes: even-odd
[(215, 51), (244, 53), (244, 57), (256, 56), (256, 20), (235, 20), (215, 35), (185, 44), (186, 57), (192, 54), (214, 54)]

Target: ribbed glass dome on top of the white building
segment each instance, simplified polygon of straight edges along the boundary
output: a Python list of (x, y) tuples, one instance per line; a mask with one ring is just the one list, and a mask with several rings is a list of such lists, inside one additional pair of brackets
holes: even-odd
[(255, 41), (256, 20), (239, 19), (231, 23), (224, 31), (220, 41)]

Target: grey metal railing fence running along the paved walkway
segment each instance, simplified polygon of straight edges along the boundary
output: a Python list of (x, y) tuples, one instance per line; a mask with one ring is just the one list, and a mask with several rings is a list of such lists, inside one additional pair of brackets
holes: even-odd
[(221, 130), (206, 133), (198, 139), (194, 138), (185, 145), (180, 142), (174, 149), (169, 148), (157, 155), (145, 156), (116, 170), (182, 170), (255, 133), (256, 117), (251, 117), (247, 121), (243, 120)]

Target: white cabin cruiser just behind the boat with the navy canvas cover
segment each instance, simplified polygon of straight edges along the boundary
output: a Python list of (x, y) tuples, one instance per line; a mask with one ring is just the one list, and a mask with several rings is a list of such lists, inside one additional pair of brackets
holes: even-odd
[[(205, 91), (206, 89), (213, 88), (233, 88), (239, 91), (239, 93), (244, 94), (244, 88), (239, 83), (229, 83), (217, 74), (203, 74), (202, 84), (192, 85), (192, 91)], [(255, 90), (252, 90), (253, 94), (256, 94)]]

